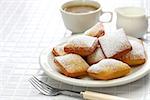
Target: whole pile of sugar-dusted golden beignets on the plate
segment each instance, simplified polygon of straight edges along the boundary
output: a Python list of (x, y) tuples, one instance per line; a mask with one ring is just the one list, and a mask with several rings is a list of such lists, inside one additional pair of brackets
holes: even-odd
[(68, 77), (115, 79), (128, 75), (132, 66), (146, 61), (141, 40), (129, 41), (123, 29), (105, 33), (100, 22), (84, 34), (55, 46), (52, 52), (58, 70)]

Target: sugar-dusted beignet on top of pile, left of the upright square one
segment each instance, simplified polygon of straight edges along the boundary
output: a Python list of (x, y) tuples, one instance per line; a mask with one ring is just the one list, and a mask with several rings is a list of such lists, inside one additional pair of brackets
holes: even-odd
[(94, 52), (98, 45), (96, 37), (77, 35), (70, 38), (64, 47), (66, 53), (88, 56)]

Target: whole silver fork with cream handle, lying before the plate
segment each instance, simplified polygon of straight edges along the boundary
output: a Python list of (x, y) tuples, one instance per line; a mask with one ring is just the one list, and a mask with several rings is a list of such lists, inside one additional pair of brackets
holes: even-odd
[(74, 96), (80, 97), (84, 99), (90, 100), (129, 100), (127, 98), (122, 98), (118, 96), (96, 93), (91, 91), (84, 91), (84, 92), (76, 92), (71, 90), (62, 90), (58, 88), (54, 88), (45, 82), (39, 80), (37, 77), (33, 76), (29, 82), (42, 94), (47, 96), (56, 96), (56, 95), (67, 95), (67, 96)]

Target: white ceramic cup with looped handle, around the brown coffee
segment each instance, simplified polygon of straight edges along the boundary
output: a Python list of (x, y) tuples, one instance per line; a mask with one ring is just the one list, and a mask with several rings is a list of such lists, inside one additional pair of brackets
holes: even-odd
[[(87, 13), (72, 13), (64, 10), (69, 6), (77, 6), (77, 5), (90, 5), (98, 9)], [(103, 12), (101, 5), (96, 1), (90, 0), (69, 1), (61, 6), (60, 11), (66, 28), (72, 31), (72, 33), (81, 33), (86, 31), (99, 21), (99, 17), (103, 13), (109, 13), (111, 15), (110, 20), (107, 22), (111, 22), (112, 20), (112, 12)]]

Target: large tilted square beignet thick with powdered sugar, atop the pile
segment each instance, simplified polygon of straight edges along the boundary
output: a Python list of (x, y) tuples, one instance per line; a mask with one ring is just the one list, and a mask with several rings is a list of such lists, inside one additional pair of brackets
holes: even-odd
[(102, 50), (107, 58), (120, 58), (132, 50), (123, 29), (99, 37)]

